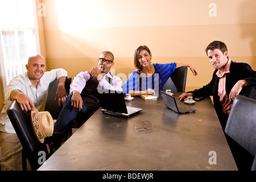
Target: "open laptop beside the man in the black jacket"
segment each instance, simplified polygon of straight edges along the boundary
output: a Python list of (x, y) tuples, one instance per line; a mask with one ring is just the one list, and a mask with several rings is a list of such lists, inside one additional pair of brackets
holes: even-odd
[(183, 114), (183, 113), (192, 113), (192, 112), (196, 111), (196, 109), (177, 104), (174, 96), (167, 94), (167, 93), (163, 92), (162, 90), (161, 90), (161, 94), (162, 94), (162, 97), (164, 100), (164, 104), (171, 110), (176, 111), (177, 113)]

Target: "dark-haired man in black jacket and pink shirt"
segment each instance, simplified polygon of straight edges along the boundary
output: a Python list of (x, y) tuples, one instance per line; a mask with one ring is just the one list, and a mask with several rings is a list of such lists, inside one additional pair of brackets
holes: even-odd
[[(216, 69), (213, 72), (212, 80), (203, 88), (181, 94), (180, 101), (188, 96), (193, 96), (194, 98), (213, 96), (214, 108), (222, 129), (225, 130), (234, 97), (238, 94), (243, 95), (245, 93), (245, 86), (256, 87), (256, 72), (251, 69), (249, 64), (236, 63), (230, 60), (228, 49), (223, 42), (214, 41), (210, 43), (205, 52), (207, 52), (210, 63)], [(237, 162), (238, 169), (243, 169), (240, 167), (243, 159), (238, 162), (240, 156), (244, 154), (240, 152), (243, 149), (228, 135), (226, 135), (226, 138)]]

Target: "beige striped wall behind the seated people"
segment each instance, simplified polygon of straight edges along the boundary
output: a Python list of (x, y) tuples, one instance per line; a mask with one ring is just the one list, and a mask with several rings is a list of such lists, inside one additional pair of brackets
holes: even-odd
[(48, 69), (64, 68), (71, 77), (90, 71), (100, 53), (109, 50), (115, 55), (115, 75), (123, 73), (125, 81), (135, 69), (135, 49), (146, 45), (153, 63), (193, 64), (199, 76), (188, 73), (186, 90), (200, 88), (212, 77), (204, 49), (213, 40), (226, 43), (232, 60), (256, 70), (254, 0), (42, 2), (46, 4), (46, 16), (39, 18), (42, 54)]

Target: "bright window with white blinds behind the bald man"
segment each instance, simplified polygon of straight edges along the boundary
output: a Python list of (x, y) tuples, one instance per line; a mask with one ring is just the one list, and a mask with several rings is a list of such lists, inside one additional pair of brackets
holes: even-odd
[(40, 53), (34, 0), (0, 0), (0, 65), (3, 95), (10, 80), (26, 72), (29, 56)]

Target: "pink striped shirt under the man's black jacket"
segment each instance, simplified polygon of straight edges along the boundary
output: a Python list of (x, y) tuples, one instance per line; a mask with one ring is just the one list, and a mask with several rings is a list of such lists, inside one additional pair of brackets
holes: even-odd
[(220, 73), (220, 70), (217, 71), (217, 77), (220, 77), (220, 81), (218, 82), (218, 96), (220, 97), (220, 103), (222, 105), (222, 112), (226, 115), (229, 115), (230, 109), (232, 107), (232, 103), (229, 101), (229, 96), (226, 94), (226, 73), (229, 73), (229, 67), (231, 64), (231, 60), (228, 60), (228, 64), (224, 69), (224, 73)]

